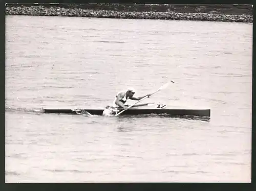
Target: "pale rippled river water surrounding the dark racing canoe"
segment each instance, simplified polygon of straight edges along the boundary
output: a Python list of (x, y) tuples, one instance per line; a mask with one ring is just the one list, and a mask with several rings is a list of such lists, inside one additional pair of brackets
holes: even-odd
[[(168, 80), (210, 120), (34, 112)], [(250, 182), (251, 87), (251, 23), (6, 16), (6, 182)]]

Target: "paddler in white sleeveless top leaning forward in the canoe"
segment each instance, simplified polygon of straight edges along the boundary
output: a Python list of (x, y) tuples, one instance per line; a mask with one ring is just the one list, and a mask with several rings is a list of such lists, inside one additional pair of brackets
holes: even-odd
[[(135, 94), (135, 89), (134, 88), (128, 88), (126, 91), (123, 91), (123, 92), (119, 92), (116, 97), (115, 97), (115, 100), (114, 100), (114, 105), (115, 106), (119, 106), (121, 108), (123, 108), (124, 110), (127, 110), (127, 105), (124, 105), (126, 103), (126, 101), (128, 99), (130, 100), (141, 100), (142, 98), (144, 98), (145, 96), (142, 96), (142, 97), (134, 97), (134, 94)], [(146, 96), (150, 97), (151, 94), (147, 94)]]

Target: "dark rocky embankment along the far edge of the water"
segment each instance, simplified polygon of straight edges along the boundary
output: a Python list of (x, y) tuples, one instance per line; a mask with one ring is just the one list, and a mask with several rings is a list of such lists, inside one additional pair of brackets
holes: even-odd
[[(214, 7), (214, 6), (187, 6), (160, 5), (161, 9), (154, 9), (150, 6), (132, 7), (131, 5), (119, 7), (106, 7), (106, 5), (31, 5), (17, 6), (8, 5), (7, 15), (35, 15), (35, 16), (77, 16), (77, 17), (98, 17), (98, 18), (127, 18), (127, 19), (164, 19), (164, 20), (205, 20), (205, 21), (226, 21), (226, 22), (252, 22), (252, 7), (245, 9), (237, 7)], [(135, 5), (134, 5), (135, 6)], [(165, 6), (165, 7), (163, 7)], [(228, 13), (228, 14), (225, 14)]]

